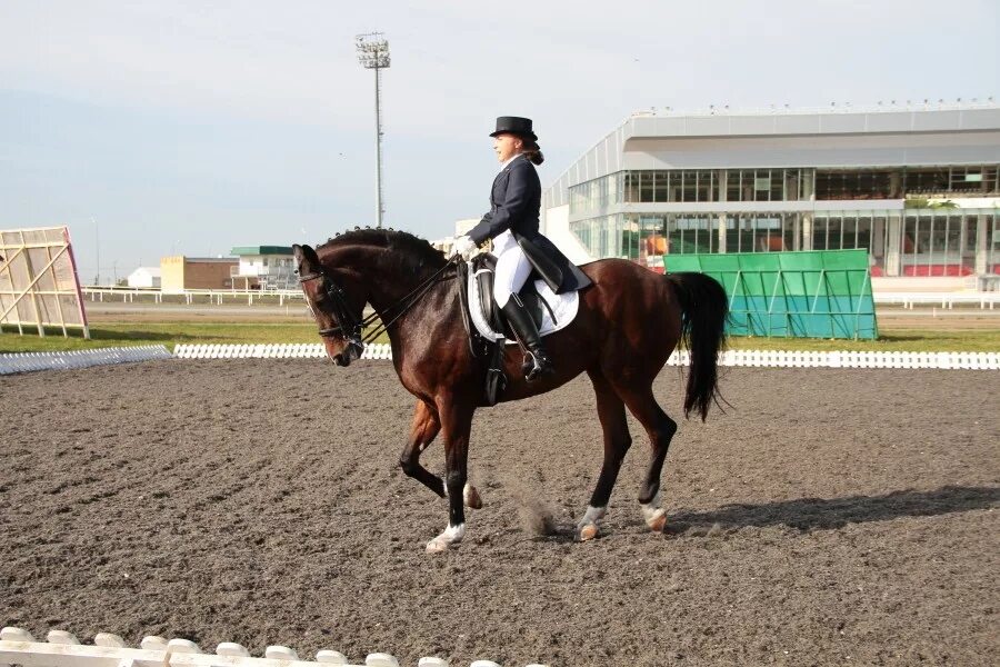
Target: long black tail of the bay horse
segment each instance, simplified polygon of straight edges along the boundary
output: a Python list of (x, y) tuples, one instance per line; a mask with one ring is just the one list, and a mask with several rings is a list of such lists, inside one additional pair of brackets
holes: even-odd
[(718, 405), (717, 358), (726, 345), (729, 298), (714, 278), (704, 273), (668, 273), (681, 307), (681, 340), (691, 352), (684, 417), (691, 410), (704, 421), (712, 401)]

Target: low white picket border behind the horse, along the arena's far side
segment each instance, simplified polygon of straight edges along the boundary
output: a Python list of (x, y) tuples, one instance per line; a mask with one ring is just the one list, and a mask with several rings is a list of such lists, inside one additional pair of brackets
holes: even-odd
[[(180, 359), (293, 359), (323, 358), (322, 344), (299, 345), (179, 345), (173, 355)], [(362, 359), (392, 359), (389, 345), (364, 348)], [(669, 366), (688, 366), (687, 350), (676, 351)], [(727, 350), (722, 366), (773, 368), (929, 368), (957, 370), (1000, 370), (1000, 352), (859, 352), (859, 351), (779, 351)]]

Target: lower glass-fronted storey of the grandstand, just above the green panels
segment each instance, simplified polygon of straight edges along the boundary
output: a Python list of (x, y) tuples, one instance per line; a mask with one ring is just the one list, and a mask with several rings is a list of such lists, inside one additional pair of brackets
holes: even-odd
[(1000, 275), (1000, 209), (613, 213), (570, 229), (592, 257), (650, 267), (668, 255), (866, 248), (876, 276)]

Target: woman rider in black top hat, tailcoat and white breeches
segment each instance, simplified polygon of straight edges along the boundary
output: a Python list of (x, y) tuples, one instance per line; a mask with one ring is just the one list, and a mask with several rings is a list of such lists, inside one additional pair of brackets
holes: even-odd
[(524, 349), (528, 381), (552, 371), (531, 313), (518, 297), (532, 269), (556, 293), (582, 289), (590, 279), (538, 231), (541, 182), (533, 165), (544, 158), (530, 118), (501, 116), (490, 135), (500, 161), (500, 173), (490, 192), (490, 212), (468, 236), (456, 239), (456, 252), (469, 259), (476, 248), (493, 239), (497, 271), (493, 298)]

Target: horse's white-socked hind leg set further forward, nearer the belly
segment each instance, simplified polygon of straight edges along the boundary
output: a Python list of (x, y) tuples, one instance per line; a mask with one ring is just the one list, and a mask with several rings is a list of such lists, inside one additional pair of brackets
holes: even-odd
[(604, 460), (601, 465), (601, 474), (598, 477), (597, 487), (590, 497), (587, 514), (577, 526), (577, 534), (581, 540), (597, 537), (599, 532), (598, 521), (603, 518), (608, 509), (608, 500), (611, 498), (611, 489), (621, 470), (621, 461), (632, 445), (629, 435), (629, 425), (626, 420), (624, 405), (616, 394), (603, 375), (588, 372), (593, 382), (597, 395), (598, 417), (601, 420), (601, 430), (604, 434)]

